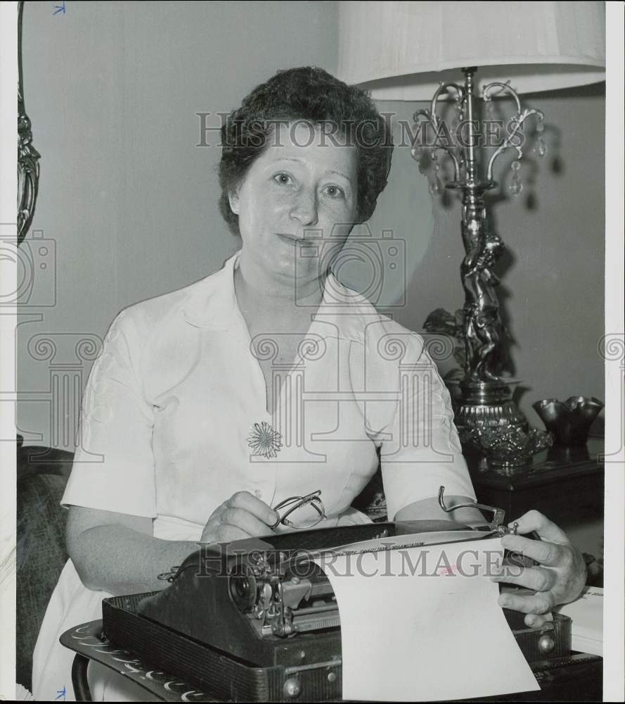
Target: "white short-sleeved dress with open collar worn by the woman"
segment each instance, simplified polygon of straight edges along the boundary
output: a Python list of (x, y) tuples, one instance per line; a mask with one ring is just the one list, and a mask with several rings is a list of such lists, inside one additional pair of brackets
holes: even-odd
[[(391, 519), (441, 484), (475, 497), (423, 340), (331, 274), (295, 363), (273, 367), (279, 396), (267, 413), (236, 302), (239, 255), (112, 323), (84, 392), (63, 505), (150, 517), (154, 536), (197, 541), (236, 491), (276, 505), (321, 489), (328, 526), (368, 522), (350, 504), (378, 468), (378, 449)], [(254, 342), (257, 355), (278, 360), (288, 339), (269, 331)], [(86, 589), (67, 562), (34, 650), (35, 698), (53, 700), (63, 686), (70, 698), (73, 657), (58, 637), (101, 618), (106, 596)], [(136, 686), (120, 679), (90, 666), (94, 699), (133, 700)]]

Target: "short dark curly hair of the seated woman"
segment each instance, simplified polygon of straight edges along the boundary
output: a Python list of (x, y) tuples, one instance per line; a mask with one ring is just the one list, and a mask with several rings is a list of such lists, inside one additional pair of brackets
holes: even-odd
[[(254, 160), (269, 146), (267, 138), (276, 125), (296, 120), (330, 125), (326, 134), (335, 134), (337, 143), (356, 146), (356, 222), (365, 222), (373, 215), (391, 165), (393, 142), (389, 126), (366, 92), (348, 86), (321, 68), (304, 66), (278, 71), (254, 88), (221, 126), (219, 209), (235, 234), (240, 234), (238, 215), (230, 207), (228, 193), (236, 191)], [(330, 141), (330, 137), (327, 139)]]

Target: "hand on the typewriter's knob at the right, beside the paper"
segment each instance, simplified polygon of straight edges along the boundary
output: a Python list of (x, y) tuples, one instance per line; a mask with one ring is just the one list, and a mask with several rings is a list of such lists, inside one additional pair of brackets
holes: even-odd
[[(524, 586), (527, 593), (503, 592), (499, 605), (526, 614), (527, 627), (540, 628), (558, 604), (576, 599), (586, 584), (586, 563), (579, 550), (555, 523), (538, 511), (528, 511), (517, 521), (517, 535), (503, 536), (504, 548), (536, 560), (535, 567), (504, 567), (496, 582)], [(512, 525), (512, 524), (510, 524)], [(524, 538), (536, 531), (540, 540)]]

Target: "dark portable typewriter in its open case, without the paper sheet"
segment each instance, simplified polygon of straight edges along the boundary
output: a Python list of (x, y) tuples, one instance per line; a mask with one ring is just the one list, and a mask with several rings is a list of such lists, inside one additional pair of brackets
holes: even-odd
[[(311, 551), (386, 538), (431, 545), (506, 531), (501, 513), (479, 530), (451, 521), (385, 522), (202, 546), (167, 589), (105, 599), (103, 634), (221, 700), (337, 700), (340, 614)], [(504, 612), (530, 664), (569, 655), (567, 617), (555, 614), (553, 627), (531, 630), (522, 615)]]

